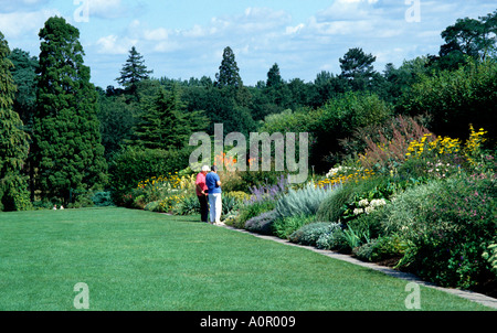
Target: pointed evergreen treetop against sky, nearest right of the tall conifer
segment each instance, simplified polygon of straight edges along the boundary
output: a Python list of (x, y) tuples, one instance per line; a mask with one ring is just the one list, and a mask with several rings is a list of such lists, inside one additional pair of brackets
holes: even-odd
[(126, 64), (123, 65), (120, 76), (116, 80), (125, 87), (129, 93), (135, 94), (137, 84), (142, 79), (148, 79), (149, 74), (154, 71), (148, 71), (145, 65), (144, 56), (133, 46), (129, 51), (129, 57)]

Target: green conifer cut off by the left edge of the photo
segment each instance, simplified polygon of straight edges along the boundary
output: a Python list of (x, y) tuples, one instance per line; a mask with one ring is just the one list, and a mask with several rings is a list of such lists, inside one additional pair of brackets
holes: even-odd
[(19, 114), (12, 108), (17, 88), (9, 54), (0, 32), (0, 211), (21, 211), (30, 205), (28, 182), (21, 173), (30, 147)]

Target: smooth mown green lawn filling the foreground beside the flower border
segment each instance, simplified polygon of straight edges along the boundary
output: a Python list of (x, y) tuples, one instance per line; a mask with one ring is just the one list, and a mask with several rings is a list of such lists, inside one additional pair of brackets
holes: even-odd
[[(406, 310), (406, 281), (316, 253), (124, 208), (0, 213), (0, 310)], [(421, 287), (422, 310), (489, 310)]]

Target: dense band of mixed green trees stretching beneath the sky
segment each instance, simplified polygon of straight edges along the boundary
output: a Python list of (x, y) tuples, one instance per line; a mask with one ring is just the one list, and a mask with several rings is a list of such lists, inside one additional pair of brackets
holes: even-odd
[[(63, 18), (40, 30), (39, 56), (10, 51), (0, 33), (0, 211), (35, 201), (68, 204), (74, 191), (115, 190), (130, 172), (123, 164), (138, 153), (184, 161), (190, 135), (213, 133), (214, 123), (226, 133), (309, 131), (317, 171), (350, 152), (343, 140), (358, 129), (395, 115), (423, 116), (441, 135), (462, 136), (467, 122), (495, 135), (496, 32), (497, 11), (457, 20), (442, 32), (438, 54), (389, 63), (381, 73), (376, 57), (356, 47), (339, 58), (339, 74), (286, 80), (275, 63), (254, 86), (244, 85), (230, 46), (213, 79), (187, 80), (151, 77), (134, 46), (118, 87), (105, 89), (91, 83), (80, 32)], [(453, 94), (451, 82), (464, 87)]]

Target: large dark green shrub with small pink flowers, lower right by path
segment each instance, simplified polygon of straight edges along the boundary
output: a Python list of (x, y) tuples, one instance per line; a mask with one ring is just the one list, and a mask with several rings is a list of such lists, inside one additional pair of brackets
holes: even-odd
[(463, 173), (399, 195), (387, 227), (410, 244), (399, 266), (442, 286), (482, 283), (482, 256), (497, 233), (495, 182)]

